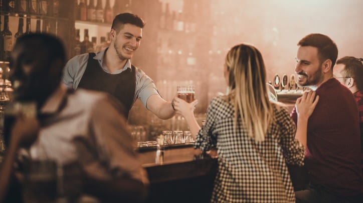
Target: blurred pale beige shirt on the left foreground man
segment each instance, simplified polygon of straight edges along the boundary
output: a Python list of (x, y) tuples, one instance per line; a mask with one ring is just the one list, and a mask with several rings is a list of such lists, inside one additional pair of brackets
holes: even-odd
[(78, 161), (91, 176), (130, 176), (147, 181), (136, 157), (120, 104), (106, 93), (61, 85), (41, 109), (41, 130), (30, 148), (34, 159)]

